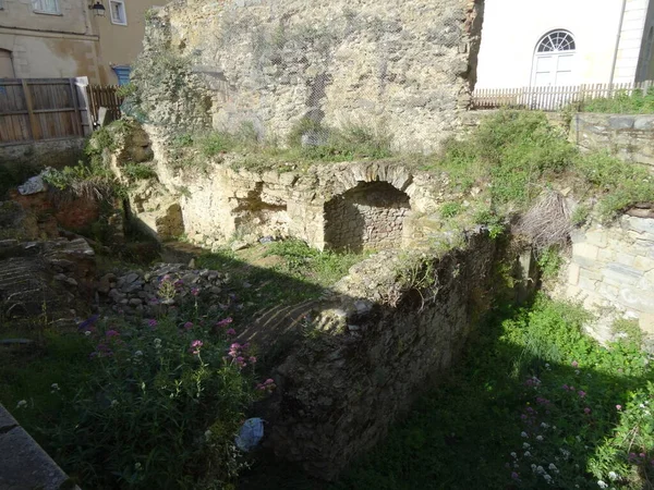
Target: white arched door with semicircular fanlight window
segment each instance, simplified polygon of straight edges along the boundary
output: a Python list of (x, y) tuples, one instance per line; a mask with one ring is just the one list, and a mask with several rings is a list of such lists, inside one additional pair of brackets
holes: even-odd
[(552, 30), (543, 36), (534, 52), (532, 85), (574, 85), (576, 50), (574, 36), (568, 30)]

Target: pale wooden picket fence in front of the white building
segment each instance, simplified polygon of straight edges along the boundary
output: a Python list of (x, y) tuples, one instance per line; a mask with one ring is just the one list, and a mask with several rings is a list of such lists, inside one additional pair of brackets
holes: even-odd
[(477, 89), (472, 95), (474, 109), (514, 107), (555, 111), (562, 107), (600, 97), (631, 95), (634, 90), (646, 93), (654, 86), (652, 81), (625, 84), (589, 84), (561, 87), (523, 87)]

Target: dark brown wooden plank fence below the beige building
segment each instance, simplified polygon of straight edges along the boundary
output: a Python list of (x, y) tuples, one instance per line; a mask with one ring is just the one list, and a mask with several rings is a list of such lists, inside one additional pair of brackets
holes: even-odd
[(0, 78), (0, 145), (90, 134), (88, 78)]

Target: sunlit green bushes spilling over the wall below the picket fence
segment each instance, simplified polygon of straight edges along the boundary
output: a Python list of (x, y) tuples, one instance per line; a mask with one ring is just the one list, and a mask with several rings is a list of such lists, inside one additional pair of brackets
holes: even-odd
[[(646, 169), (602, 152), (581, 155), (545, 114), (533, 111), (485, 119), (467, 138), (448, 142), (443, 155), (423, 159), (422, 169), (445, 171), (461, 192), (489, 184), (496, 213), (524, 211), (557, 184), (579, 196), (597, 196), (606, 220), (654, 196), (654, 176)], [(576, 219), (585, 219), (581, 210)]]

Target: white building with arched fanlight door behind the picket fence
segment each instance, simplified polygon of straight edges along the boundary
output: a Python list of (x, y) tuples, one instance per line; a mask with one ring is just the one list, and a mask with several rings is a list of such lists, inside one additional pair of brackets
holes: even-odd
[(486, 0), (476, 88), (654, 79), (654, 0)]

